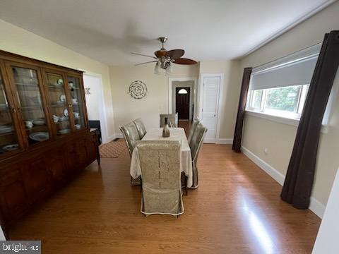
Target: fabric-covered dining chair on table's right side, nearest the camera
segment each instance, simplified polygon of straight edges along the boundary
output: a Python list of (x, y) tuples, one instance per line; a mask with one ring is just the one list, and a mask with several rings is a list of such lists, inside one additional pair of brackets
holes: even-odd
[(198, 123), (192, 135), (191, 142), (189, 143), (189, 147), (191, 148), (193, 169), (193, 185), (191, 186), (191, 188), (198, 187), (198, 167), (196, 167), (196, 164), (198, 162), (198, 155), (201, 146), (203, 145), (203, 138), (205, 138), (206, 132), (207, 128), (203, 126), (202, 123)]

